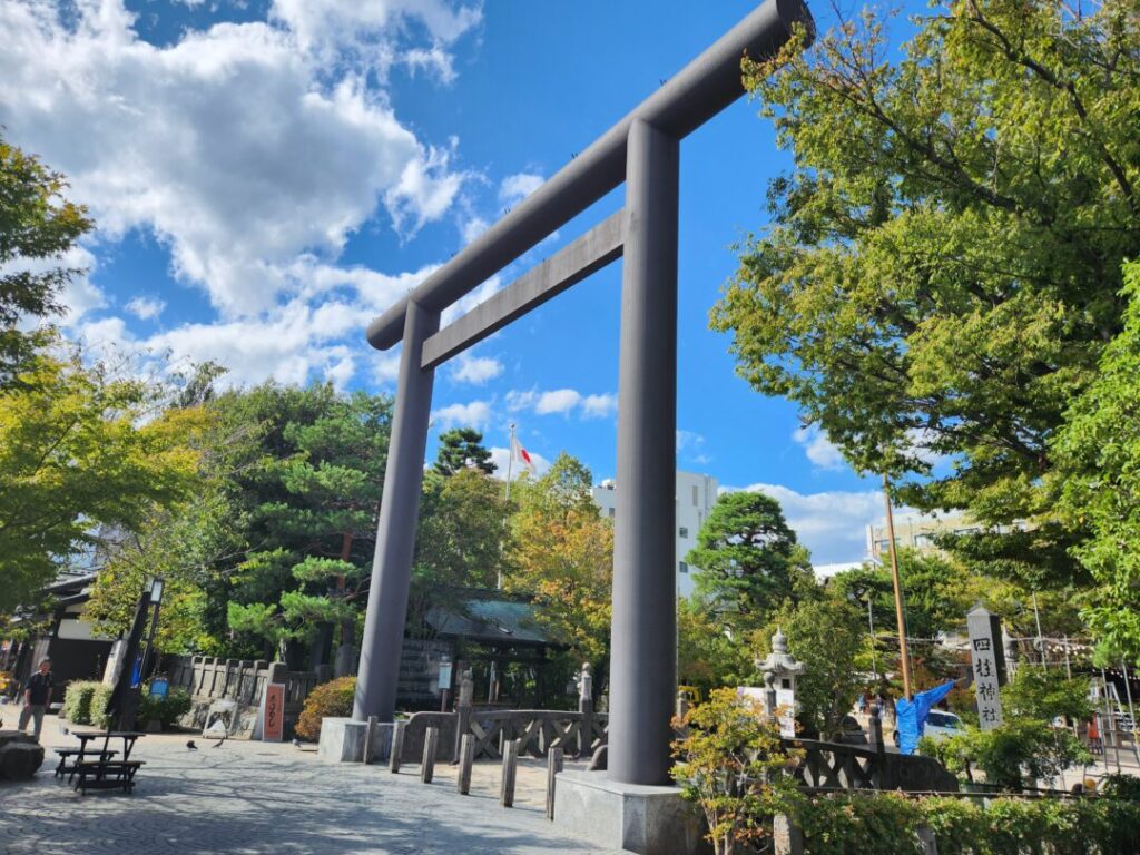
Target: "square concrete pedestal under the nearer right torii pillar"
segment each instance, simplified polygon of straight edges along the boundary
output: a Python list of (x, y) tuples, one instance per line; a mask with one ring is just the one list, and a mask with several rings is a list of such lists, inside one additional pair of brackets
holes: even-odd
[(554, 823), (609, 849), (638, 855), (705, 855), (705, 822), (676, 787), (610, 781), (605, 772), (562, 772)]

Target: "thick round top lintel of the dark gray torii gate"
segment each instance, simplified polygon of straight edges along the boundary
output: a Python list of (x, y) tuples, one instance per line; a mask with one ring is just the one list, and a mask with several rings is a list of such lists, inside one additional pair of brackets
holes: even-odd
[(626, 139), (638, 120), (676, 139), (689, 136), (741, 95), (741, 58), (775, 54), (812, 15), (803, 0), (765, 0), (703, 54), (635, 107), (510, 213), (368, 325), (368, 342), (388, 350), (404, 336), (409, 300), (442, 311), (625, 180)]

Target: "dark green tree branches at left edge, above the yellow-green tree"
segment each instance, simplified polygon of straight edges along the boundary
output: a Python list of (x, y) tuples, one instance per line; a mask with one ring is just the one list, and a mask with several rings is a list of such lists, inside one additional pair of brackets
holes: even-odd
[[(82, 272), (63, 260), (92, 222), (63, 197), (66, 186), (0, 135), (0, 388), (51, 341), (50, 329), (28, 329), (27, 321), (59, 315), (60, 290)], [(24, 382), (34, 377), (34, 369), (23, 373)]]

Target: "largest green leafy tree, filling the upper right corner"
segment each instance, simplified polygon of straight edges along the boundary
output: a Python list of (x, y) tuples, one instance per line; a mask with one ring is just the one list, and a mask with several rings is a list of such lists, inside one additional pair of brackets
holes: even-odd
[(1035, 520), (992, 546), (1067, 580), (1042, 478), (1140, 249), (1140, 18), (1131, 0), (937, 6), (898, 59), (868, 15), (749, 66), (795, 168), (712, 326), (856, 469), (915, 475), (899, 498), (923, 510)]

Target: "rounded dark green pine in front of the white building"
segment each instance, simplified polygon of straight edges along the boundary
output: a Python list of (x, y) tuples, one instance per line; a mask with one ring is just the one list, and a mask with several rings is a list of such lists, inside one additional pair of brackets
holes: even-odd
[(812, 572), (780, 503), (763, 492), (720, 496), (685, 561), (700, 568), (698, 593), (738, 633), (762, 625), (792, 595), (796, 578)]

